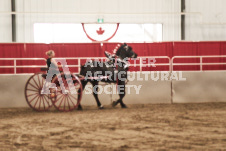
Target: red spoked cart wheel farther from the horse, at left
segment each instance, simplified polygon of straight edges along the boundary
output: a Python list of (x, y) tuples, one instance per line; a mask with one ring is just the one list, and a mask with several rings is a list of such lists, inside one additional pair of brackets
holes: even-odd
[(47, 111), (52, 106), (48, 94), (41, 94), (45, 79), (41, 73), (32, 75), (25, 86), (25, 98), (28, 105), (35, 111)]

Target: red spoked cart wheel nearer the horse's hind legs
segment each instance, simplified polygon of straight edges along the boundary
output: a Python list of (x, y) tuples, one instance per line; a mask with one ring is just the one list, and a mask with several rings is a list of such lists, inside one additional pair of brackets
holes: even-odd
[[(53, 82), (57, 85), (57, 92), (56, 97), (52, 97), (52, 103), (56, 109), (64, 112), (77, 108), (82, 99), (81, 81), (73, 74), (68, 76), (71, 76), (71, 80), (66, 80), (67, 75), (63, 73), (53, 79)], [(62, 85), (64, 88), (62, 88)], [(69, 86), (74, 89), (70, 90)]]

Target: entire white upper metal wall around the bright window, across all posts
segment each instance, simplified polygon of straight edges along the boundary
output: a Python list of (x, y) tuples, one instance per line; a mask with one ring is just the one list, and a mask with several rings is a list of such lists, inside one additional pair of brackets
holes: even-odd
[[(163, 41), (181, 38), (181, 0), (16, 0), (17, 41), (34, 42), (39, 23), (162, 23)], [(0, 0), (0, 12), (10, 12), (10, 0)], [(225, 0), (186, 0), (186, 39), (226, 40)], [(27, 12), (27, 13), (26, 13)], [(33, 13), (29, 13), (33, 12)], [(0, 42), (11, 41), (11, 15), (0, 13)]]

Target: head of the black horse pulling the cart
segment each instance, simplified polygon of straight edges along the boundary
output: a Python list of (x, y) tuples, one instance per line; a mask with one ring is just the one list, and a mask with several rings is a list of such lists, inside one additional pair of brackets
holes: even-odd
[(128, 46), (126, 43), (122, 44), (118, 48), (116, 56), (118, 56), (121, 59), (137, 58), (137, 54), (133, 51), (132, 47)]

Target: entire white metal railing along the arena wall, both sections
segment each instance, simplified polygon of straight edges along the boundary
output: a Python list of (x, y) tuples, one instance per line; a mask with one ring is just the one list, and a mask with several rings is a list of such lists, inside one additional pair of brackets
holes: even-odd
[[(218, 56), (174, 56), (170, 59), (168, 56), (141, 56), (138, 57), (136, 60), (134, 60), (134, 63), (131, 63), (130, 66), (132, 67), (139, 67), (140, 72), (143, 71), (143, 67), (153, 67), (154, 66), (167, 66), (169, 68), (168, 71), (174, 71), (175, 66), (199, 66), (200, 70), (203, 71), (203, 66), (209, 66), (209, 65), (226, 65), (226, 61), (224, 62), (211, 62), (211, 63), (205, 63), (203, 59), (206, 58), (224, 58), (226, 59), (226, 55), (218, 55)], [(80, 67), (84, 62), (83, 60), (91, 59), (91, 60), (107, 60), (106, 57), (65, 57), (65, 58), (57, 58), (57, 59), (66, 59), (66, 60), (74, 60), (75, 64), (68, 64), (68, 67), (70, 68), (77, 68), (78, 72), (80, 72)], [(145, 60), (153, 60), (153, 59), (166, 59), (166, 63), (158, 63), (155, 62), (146, 62)], [(198, 59), (199, 62), (196, 63), (175, 63), (176, 59)], [(13, 69), (13, 73), (11, 74), (20, 74), (17, 72), (18, 68), (44, 68), (46, 65), (18, 65), (18, 61), (46, 61), (45, 58), (0, 58), (0, 61), (12, 61), (12, 65), (0, 65), (0, 69)], [(138, 63), (137, 63), (138, 62)], [(45, 63), (43, 63), (45, 64)], [(1, 73), (0, 73), (1, 74)], [(23, 73), (25, 74), (25, 73)]]

